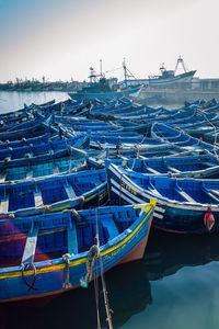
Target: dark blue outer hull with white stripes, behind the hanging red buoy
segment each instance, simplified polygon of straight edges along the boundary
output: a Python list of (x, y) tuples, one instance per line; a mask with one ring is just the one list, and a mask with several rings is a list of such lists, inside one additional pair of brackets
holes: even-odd
[[(209, 205), (162, 200), (152, 189), (149, 192), (138, 186), (131, 178), (112, 163), (107, 166), (106, 172), (111, 204), (136, 204), (157, 197), (153, 227), (177, 234), (209, 234), (204, 224)], [(219, 231), (219, 207), (211, 205), (211, 213), (215, 217), (211, 232)]]

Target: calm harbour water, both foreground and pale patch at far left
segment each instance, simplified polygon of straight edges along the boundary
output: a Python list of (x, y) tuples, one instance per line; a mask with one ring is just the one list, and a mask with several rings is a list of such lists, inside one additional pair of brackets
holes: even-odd
[[(62, 97), (59, 92), (0, 92), (0, 112)], [(152, 230), (143, 260), (105, 274), (114, 328), (218, 329), (218, 261), (217, 235), (187, 237)], [(100, 310), (102, 328), (107, 328), (102, 302)], [(42, 308), (0, 308), (0, 328), (97, 328), (93, 284)]]

